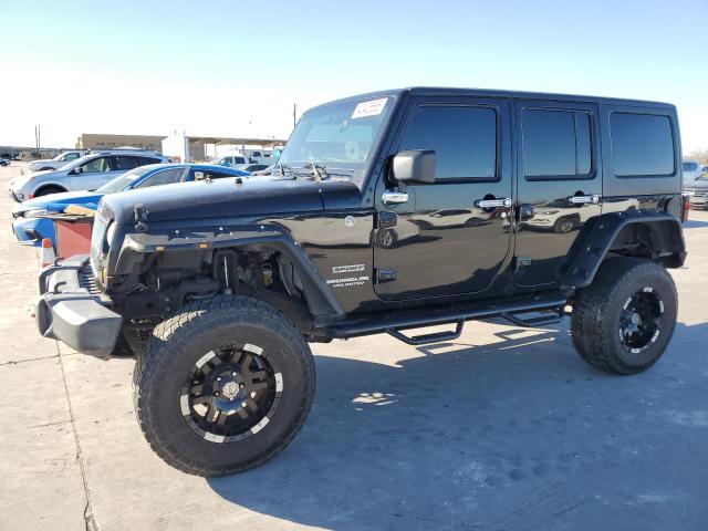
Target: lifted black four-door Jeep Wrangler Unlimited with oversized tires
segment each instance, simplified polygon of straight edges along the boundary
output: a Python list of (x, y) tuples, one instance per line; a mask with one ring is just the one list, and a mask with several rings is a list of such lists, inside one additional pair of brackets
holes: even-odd
[[(131, 348), (155, 451), (190, 473), (258, 466), (302, 426), (308, 342), (408, 344), (465, 321), (571, 314), (602, 369), (652, 366), (684, 263), (671, 105), (408, 88), (305, 113), (273, 174), (107, 196), (90, 257), (40, 275), (40, 332)], [(449, 324), (447, 333), (410, 335)]]

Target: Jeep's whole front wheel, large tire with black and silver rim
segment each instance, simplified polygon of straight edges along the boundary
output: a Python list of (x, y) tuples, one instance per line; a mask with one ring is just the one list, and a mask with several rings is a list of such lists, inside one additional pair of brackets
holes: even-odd
[(314, 386), (310, 347), (282, 313), (217, 296), (155, 327), (138, 360), (135, 406), (167, 464), (220, 476), (280, 452), (304, 423)]

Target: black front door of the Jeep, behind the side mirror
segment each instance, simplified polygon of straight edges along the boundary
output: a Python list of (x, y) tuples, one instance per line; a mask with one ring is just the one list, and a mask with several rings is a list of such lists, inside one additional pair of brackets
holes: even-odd
[[(485, 292), (510, 252), (509, 102), (414, 97), (395, 153), (433, 149), (434, 184), (376, 189), (375, 289), (384, 300)], [(485, 202), (486, 201), (486, 202)]]

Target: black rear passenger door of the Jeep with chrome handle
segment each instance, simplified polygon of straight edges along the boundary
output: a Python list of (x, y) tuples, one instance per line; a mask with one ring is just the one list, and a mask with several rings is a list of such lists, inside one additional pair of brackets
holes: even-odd
[(601, 214), (597, 108), (518, 101), (514, 280), (553, 284), (587, 219)]

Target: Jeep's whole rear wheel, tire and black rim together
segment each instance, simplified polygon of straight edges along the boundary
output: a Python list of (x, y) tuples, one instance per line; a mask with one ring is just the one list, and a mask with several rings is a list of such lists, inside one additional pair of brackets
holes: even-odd
[(614, 258), (573, 304), (573, 345), (587, 363), (615, 374), (654, 365), (676, 327), (676, 287), (658, 263)]

